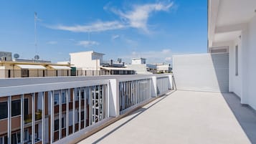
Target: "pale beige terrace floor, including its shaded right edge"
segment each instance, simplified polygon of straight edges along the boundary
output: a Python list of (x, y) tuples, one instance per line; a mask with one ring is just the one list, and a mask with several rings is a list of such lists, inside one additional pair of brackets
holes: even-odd
[(246, 144), (256, 143), (255, 135), (255, 112), (242, 107), (235, 95), (178, 90), (80, 143)]

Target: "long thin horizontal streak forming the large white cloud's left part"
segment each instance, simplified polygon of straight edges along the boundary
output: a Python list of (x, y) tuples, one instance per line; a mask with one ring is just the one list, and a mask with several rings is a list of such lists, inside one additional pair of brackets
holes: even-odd
[(114, 29), (123, 29), (125, 25), (120, 23), (119, 21), (97, 21), (92, 24), (87, 25), (75, 25), (75, 26), (65, 26), (65, 25), (57, 25), (57, 26), (47, 26), (50, 29), (59, 29), (70, 32), (103, 32)]

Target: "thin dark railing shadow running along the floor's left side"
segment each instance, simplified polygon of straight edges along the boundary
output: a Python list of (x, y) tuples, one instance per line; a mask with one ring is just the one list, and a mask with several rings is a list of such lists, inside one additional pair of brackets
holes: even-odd
[[(101, 138), (99, 138), (98, 140), (95, 140), (95, 142), (93, 142), (93, 144), (97, 144), (99, 143), (101, 140), (103, 140), (104, 138), (107, 138), (108, 135), (114, 133), (116, 130), (118, 130), (119, 128), (123, 127), (123, 125), (129, 123), (131, 120), (133, 120), (134, 118), (138, 117), (138, 115), (141, 115), (143, 112), (145, 112), (146, 110), (148, 110), (149, 108), (153, 107), (153, 105), (156, 105), (158, 102), (161, 102), (161, 100), (165, 99), (166, 97), (168, 97), (169, 95), (171, 95), (171, 93), (173, 93), (175, 91), (172, 91), (172, 92), (169, 92), (168, 95), (163, 95), (161, 97), (159, 97), (157, 100), (153, 101), (152, 103), (153, 104), (149, 104), (150, 106), (147, 107), (147, 108), (143, 108), (141, 107), (140, 109), (134, 111), (134, 112), (131, 112), (130, 115), (134, 115), (133, 117), (131, 117), (130, 119), (126, 120), (125, 123), (122, 123), (121, 125), (119, 125), (118, 127), (114, 128), (113, 130), (111, 130), (109, 133), (103, 135)], [(129, 116), (129, 115), (128, 115)]]

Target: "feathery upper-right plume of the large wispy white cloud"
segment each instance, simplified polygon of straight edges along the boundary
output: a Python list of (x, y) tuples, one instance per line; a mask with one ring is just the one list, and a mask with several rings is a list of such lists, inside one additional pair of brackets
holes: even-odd
[[(123, 22), (127, 23), (129, 27), (142, 29), (144, 32), (148, 32), (148, 18), (153, 11), (169, 11), (174, 2), (168, 4), (156, 3), (156, 4), (144, 4), (133, 5), (133, 9), (129, 11), (120, 11), (116, 9), (110, 9), (115, 14), (118, 14)], [(106, 9), (106, 8), (105, 8)]]

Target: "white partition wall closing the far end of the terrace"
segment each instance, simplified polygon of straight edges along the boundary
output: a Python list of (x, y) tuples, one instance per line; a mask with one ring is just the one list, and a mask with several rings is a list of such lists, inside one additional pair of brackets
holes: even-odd
[(229, 91), (229, 54), (186, 54), (173, 57), (177, 90)]

